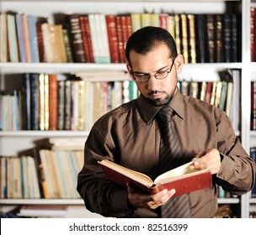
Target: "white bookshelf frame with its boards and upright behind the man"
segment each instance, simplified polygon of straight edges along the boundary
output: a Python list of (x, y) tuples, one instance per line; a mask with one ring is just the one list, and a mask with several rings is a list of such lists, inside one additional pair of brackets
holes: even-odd
[[(45, 4), (46, 2), (46, 4)], [(237, 135), (241, 135), (242, 144), (248, 151), (250, 146), (256, 143), (256, 132), (249, 131), (250, 118), (250, 81), (256, 80), (253, 77), (256, 72), (256, 63), (250, 62), (250, 7), (256, 7), (255, 2), (250, 0), (242, 1), (224, 1), (224, 0), (201, 0), (201, 1), (86, 1), (86, 0), (46, 0), (46, 1), (23, 1), (23, 0), (1, 0), (0, 11), (14, 11), (18, 13), (30, 13), (38, 16), (49, 18), (50, 23), (54, 23), (54, 13), (142, 13), (143, 11), (161, 13), (224, 13), (226, 11), (226, 3), (233, 2), (241, 4), (242, 12), (242, 35), (238, 35), (242, 39), (242, 61), (239, 63), (214, 63), (214, 64), (195, 64), (184, 65), (184, 71), (179, 79), (190, 79), (191, 76), (196, 77), (198, 81), (205, 81), (205, 74), (211, 81), (216, 81), (219, 76), (218, 71), (224, 69), (238, 69), (242, 74), (242, 115), (241, 130), (236, 130)], [(76, 73), (83, 71), (125, 71), (125, 64), (60, 64), (60, 63), (0, 63), (0, 88), (4, 88), (3, 78), (8, 74), (19, 74), (23, 72), (45, 72), (45, 73)], [(17, 131), (17, 132), (0, 132), (0, 155), (15, 154), (22, 149), (34, 146), (35, 140), (48, 137), (84, 137), (86, 139), (88, 132), (73, 131)], [(256, 144), (255, 144), (256, 145)], [(256, 199), (255, 199), (256, 200)], [(250, 205), (256, 201), (250, 198), (249, 194), (240, 198), (219, 199), (219, 203), (237, 204), (241, 206), (241, 217), (248, 217)], [(65, 204), (78, 206), (83, 211), (82, 200), (0, 200), (0, 204), (23, 205), (23, 204)]]

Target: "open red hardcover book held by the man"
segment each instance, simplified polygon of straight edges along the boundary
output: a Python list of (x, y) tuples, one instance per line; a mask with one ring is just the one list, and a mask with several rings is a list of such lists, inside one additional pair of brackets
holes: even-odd
[(108, 159), (101, 160), (98, 163), (104, 174), (115, 183), (126, 186), (127, 182), (132, 182), (141, 190), (148, 191), (150, 194), (163, 189), (168, 191), (175, 189), (174, 196), (179, 196), (212, 185), (211, 172), (209, 170), (191, 170), (189, 165), (192, 164), (192, 161), (157, 176), (155, 180), (141, 172), (115, 164)]

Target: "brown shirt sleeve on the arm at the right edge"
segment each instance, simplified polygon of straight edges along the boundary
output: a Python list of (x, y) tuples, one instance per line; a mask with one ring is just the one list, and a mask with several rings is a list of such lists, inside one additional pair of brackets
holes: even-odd
[(221, 170), (216, 174), (216, 183), (234, 195), (247, 193), (255, 181), (255, 162), (243, 149), (225, 113), (217, 123), (217, 138)]

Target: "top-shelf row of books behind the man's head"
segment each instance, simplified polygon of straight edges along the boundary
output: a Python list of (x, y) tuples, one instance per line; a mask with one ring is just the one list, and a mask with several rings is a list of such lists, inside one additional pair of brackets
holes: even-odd
[(0, 61), (125, 63), (129, 36), (159, 26), (173, 35), (185, 63), (237, 62), (239, 22), (234, 13), (72, 13), (60, 23), (0, 13)]

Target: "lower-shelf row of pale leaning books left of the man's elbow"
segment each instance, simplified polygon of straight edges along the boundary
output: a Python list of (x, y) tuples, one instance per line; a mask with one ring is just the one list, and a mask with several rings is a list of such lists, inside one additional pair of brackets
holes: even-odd
[(33, 157), (1, 156), (1, 198), (80, 198), (76, 182), (83, 167), (83, 150), (33, 151)]

